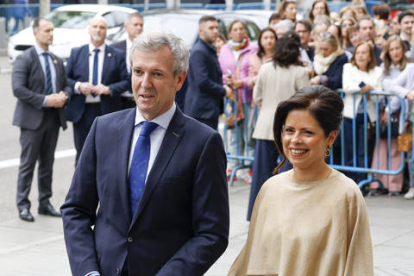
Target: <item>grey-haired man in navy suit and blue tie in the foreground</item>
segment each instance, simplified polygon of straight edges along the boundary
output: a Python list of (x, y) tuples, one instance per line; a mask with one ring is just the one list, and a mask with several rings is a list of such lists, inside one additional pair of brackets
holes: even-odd
[(222, 139), (174, 103), (181, 38), (142, 34), (132, 53), (137, 108), (95, 120), (61, 207), (72, 274), (203, 275), (228, 244)]

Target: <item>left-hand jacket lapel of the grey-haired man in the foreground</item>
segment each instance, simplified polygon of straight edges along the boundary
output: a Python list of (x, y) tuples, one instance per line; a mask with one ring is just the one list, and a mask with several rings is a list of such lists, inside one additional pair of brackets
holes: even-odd
[(130, 112), (126, 113), (124, 120), (119, 123), (118, 133), (117, 133), (117, 148), (118, 156), (116, 164), (118, 166), (118, 183), (119, 183), (119, 193), (121, 196), (121, 204), (126, 215), (128, 222), (131, 221), (131, 210), (129, 204), (129, 183), (128, 183), (128, 163), (129, 163), (129, 154), (131, 148), (131, 140), (134, 131), (135, 125), (135, 112), (136, 108), (131, 109)]

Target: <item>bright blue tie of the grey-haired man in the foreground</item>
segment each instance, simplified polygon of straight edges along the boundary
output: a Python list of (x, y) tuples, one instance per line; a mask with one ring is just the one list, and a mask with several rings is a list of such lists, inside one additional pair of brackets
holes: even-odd
[(129, 173), (129, 189), (131, 199), (131, 216), (133, 217), (137, 210), (139, 200), (145, 187), (145, 178), (147, 176), (148, 161), (150, 157), (151, 132), (157, 128), (156, 123), (144, 122), (141, 133), (139, 134), (137, 144), (135, 145), (134, 155), (131, 161), (131, 170)]

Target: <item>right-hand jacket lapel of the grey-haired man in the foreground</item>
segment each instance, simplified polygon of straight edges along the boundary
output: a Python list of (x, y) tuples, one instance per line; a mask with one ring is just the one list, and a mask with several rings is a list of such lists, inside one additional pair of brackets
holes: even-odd
[(181, 111), (177, 108), (175, 114), (168, 126), (168, 129), (165, 133), (164, 140), (162, 141), (160, 150), (158, 151), (157, 157), (155, 158), (154, 164), (150, 174), (148, 175), (147, 183), (145, 185), (145, 190), (142, 195), (141, 201), (139, 202), (137, 212), (132, 219), (131, 227), (135, 224), (139, 216), (141, 215), (145, 205), (151, 198), (152, 193), (156, 189), (160, 178), (164, 174), (165, 169), (168, 166), (168, 163), (171, 160), (171, 157), (174, 154), (175, 149), (181, 141), (181, 137), (184, 133), (184, 116)]

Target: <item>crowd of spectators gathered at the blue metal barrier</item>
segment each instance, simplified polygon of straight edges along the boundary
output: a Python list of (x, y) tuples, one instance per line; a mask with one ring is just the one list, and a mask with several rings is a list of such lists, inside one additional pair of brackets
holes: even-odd
[[(254, 107), (258, 110), (256, 124), (243, 122), (240, 128), (243, 130), (247, 127), (249, 131), (254, 129), (252, 137), (256, 138), (255, 149), (252, 149), (253, 153), (250, 151), (250, 155), (255, 156), (253, 174), (251, 171), (246, 173), (253, 178), (250, 205), (253, 204), (264, 180), (272, 173), (270, 167), (274, 168), (277, 163), (276, 150), (274, 146), (269, 148), (268, 145), (273, 143), (273, 137), (266, 135), (264, 121), (268, 121), (271, 126), (273, 117), (269, 114), (274, 112), (273, 109), (304, 85), (323, 85), (332, 90), (342, 89), (344, 92), (345, 142), (342, 146), (345, 147), (345, 156), (341, 158), (341, 144), (336, 142), (333, 148), (337, 153), (334, 161), (336, 164), (364, 167), (365, 158), (368, 158), (370, 167), (374, 169), (391, 169), (386, 161), (386, 138), (380, 139), (379, 150), (375, 154), (375, 139), (368, 139), (368, 147), (364, 145), (363, 114), (368, 114), (369, 125), (384, 124), (388, 122), (388, 114), (400, 120), (400, 116), (403, 116), (400, 114), (401, 105), (397, 97), (390, 97), (391, 105), (385, 98), (381, 99), (380, 116), (376, 118), (375, 97), (368, 97), (364, 101), (362, 94), (370, 91), (394, 93), (406, 100), (407, 110), (410, 110), (411, 101), (414, 99), (414, 83), (411, 83), (414, 78), (410, 78), (410, 74), (414, 74), (414, 67), (410, 64), (414, 56), (414, 11), (402, 11), (391, 18), (390, 7), (387, 4), (378, 4), (372, 8), (372, 13), (374, 17), (369, 15), (363, 1), (354, 0), (336, 13), (329, 10), (326, 1), (316, 0), (307, 18), (297, 20), (297, 3), (282, 1), (278, 12), (269, 18), (269, 26), (262, 31), (258, 40), (259, 47), (251, 45), (246, 32), (243, 32), (245, 26), (240, 21), (231, 24), (230, 40), (225, 46), (220, 46), (225, 43), (224, 38), (218, 39), (216, 46), (223, 82), (233, 88), (245, 88), (246, 97), (240, 89), (238, 93), (248, 103), (247, 112), (252, 113)], [(236, 32), (234, 26), (239, 26), (241, 31)], [(286, 47), (289, 49), (285, 49)], [(281, 58), (285, 60), (281, 61)], [(354, 97), (356, 92), (358, 93)], [(269, 106), (273, 108), (272, 111), (269, 111)], [(353, 124), (356, 124), (355, 136)], [(401, 126), (399, 131), (402, 133), (406, 129)], [(244, 136), (241, 134), (239, 137)], [(234, 133), (230, 135), (230, 139), (229, 152), (236, 154)], [(356, 158), (353, 156), (354, 140)], [(242, 146), (242, 143), (239, 145)], [(391, 139), (390, 150), (392, 169), (396, 169), (402, 162), (396, 138)], [(263, 153), (266, 152), (267, 156), (264, 156)], [(243, 147), (237, 154), (243, 154)], [(341, 163), (341, 159), (344, 162)], [(260, 165), (263, 162), (270, 167), (265, 169), (263, 164)], [(231, 173), (235, 165), (236, 161), (230, 161), (228, 173)], [(412, 168), (410, 163), (407, 165), (410, 172), (407, 182), (410, 187), (404, 187), (402, 173), (393, 176), (378, 175), (385, 192), (390, 196), (400, 195), (409, 189), (405, 198), (414, 198), (414, 175), (411, 177)], [(264, 171), (259, 171), (258, 168)], [(366, 175), (362, 173), (345, 173), (356, 182), (366, 179)], [(251, 182), (249, 177), (243, 178)], [(370, 195), (378, 195), (380, 192), (384, 193), (380, 191), (378, 183), (373, 182), (370, 185)]]

